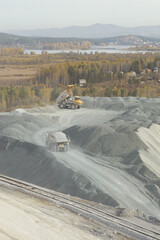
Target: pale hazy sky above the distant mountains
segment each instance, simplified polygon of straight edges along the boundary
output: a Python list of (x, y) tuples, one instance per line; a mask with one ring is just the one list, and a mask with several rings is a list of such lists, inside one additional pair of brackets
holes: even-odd
[(160, 25), (160, 0), (0, 0), (0, 31), (95, 23)]

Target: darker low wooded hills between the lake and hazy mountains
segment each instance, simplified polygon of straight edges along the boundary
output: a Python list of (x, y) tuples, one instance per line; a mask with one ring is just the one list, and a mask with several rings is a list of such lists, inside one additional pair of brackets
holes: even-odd
[(142, 36), (117, 36), (110, 38), (43, 38), (43, 37), (24, 37), (7, 33), (0, 33), (0, 47), (22, 47), (26, 49), (44, 49), (44, 44), (68, 43), (89, 41), (92, 45), (117, 44), (117, 45), (136, 45), (144, 42), (160, 44), (160, 39)]

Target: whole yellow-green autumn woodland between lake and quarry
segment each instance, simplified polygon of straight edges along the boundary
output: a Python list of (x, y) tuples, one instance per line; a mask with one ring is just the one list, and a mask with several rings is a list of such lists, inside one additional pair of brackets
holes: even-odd
[[(42, 51), (37, 55), (34, 51), (24, 54), (22, 48), (2, 48), (0, 111), (54, 103), (68, 84), (75, 85), (74, 95), (158, 97), (159, 68), (158, 52), (49, 54)], [(81, 87), (80, 79), (86, 80)]]

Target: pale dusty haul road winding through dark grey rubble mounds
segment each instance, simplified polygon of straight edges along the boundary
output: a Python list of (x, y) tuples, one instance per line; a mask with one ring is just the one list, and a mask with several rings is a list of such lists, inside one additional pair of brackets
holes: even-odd
[[(45, 134), (48, 130), (65, 130), (74, 125), (100, 126), (117, 118), (123, 112), (105, 110), (58, 110), (57, 124), (33, 134), (33, 143), (45, 146)], [(77, 136), (78, 137), (78, 136)], [(79, 148), (72, 147), (67, 153), (52, 153), (56, 159), (74, 171), (80, 172), (104, 193), (109, 194), (121, 207), (140, 209), (145, 214), (157, 215), (157, 206), (141, 188), (140, 181), (132, 178), (123, 170), (114, 166), (115, 159), (107, 163), (100, 156), (88, 156)], [(151, 208), (152, 206), (152, 208)]]

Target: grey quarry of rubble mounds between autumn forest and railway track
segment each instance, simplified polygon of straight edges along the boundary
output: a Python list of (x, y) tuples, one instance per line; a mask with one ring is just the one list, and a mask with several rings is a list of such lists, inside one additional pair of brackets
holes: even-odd
[[(1, 113), (0, 174), (158, 223), (160, 98), (84, 97), (83, 101), (84, 107), (76, 110), (53, 105)], [(48, 149), (48, 131), (69, 136), (69, 150)], [(78, 233), (76, 239), (102, 239)], [(53, 237), (50, 232), (48, 236)]]

